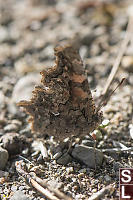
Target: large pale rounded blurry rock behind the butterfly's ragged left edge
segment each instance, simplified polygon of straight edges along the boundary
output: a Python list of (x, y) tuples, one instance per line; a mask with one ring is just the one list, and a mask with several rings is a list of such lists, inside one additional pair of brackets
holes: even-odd
[(13, 89), (12, 101), (18, 103), (21, 100), (29, 100), (32, 96), (34, 86), (38, 85), (39, 82), (39, 73), (30, 73), (20, 78)]

